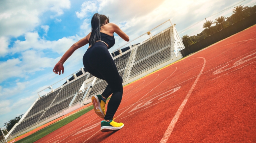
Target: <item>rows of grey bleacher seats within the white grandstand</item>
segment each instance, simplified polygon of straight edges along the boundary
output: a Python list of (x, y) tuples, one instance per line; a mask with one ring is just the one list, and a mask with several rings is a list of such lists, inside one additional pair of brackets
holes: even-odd
[[(122, 53), (120, 53), (119, 51), (115, 51), (115, 55), (114, 53), (111, 53), (114, 57), (113, 59), (120, 76), (123, 77), (124, 71), (128, 69), (129, 72), (126, 72), (126, 77), (128, 73), (129, 78), (134, 77), (140, 74), (141, 71), (147, 71), (149, 68), (152, 68), (157, 64), (170, 59), (170, 57), (175, 56), (173, 53), (173, 49), (171, 49), (173, 48), (171, 47), (173, 45), (172, 34), (173, 28), (171, 26), (155, 35), (153, 39), (149, 39), (142, 43), (135, 44), (137, 46), (133, 47), (133, 56), (131, 56), (132, 51), (130, 47), (120, 49), (122, 53), (125, 52), (125, 54), (123, 55), (121, 55)], [(129, 68), (126, 68), (129, 58), (133, 60), (129, 61), (132, 62), (130, 63), (131, 66)], [(84, 71), (86, 72), (85, 69)], [(79, 89), (81, 88), (84, 81), (93, 77), (93, 75), (88, 73), (84, 76), (82, 71), (75, 73), (75, 75), (79, 78), (77, 79), (76, 77), (72, 76), (71, 78), (69, 78), (69, 82), (71, 81), (70, 83), (67, 84), (67, 82), (65, 82), (63, 84), (65, 86), (63, 86), (62, 88), (54, 91), (47, 96), (42, 96), (41, 99), (39, 99), (30, 109), (25, 117), (26, 120), (24, 119), (24, 122), (19, 123), (19, 125), (16, 126), (15, 129), (12, 131), (12, 134), (15, 134), (15, 132), (18, 132), (19, 130), (22, 130), (39, 121), (43, 121), (47, 117), (50, 118), (53, 114), (59, 113), (63, 109), (68, 109), (71, 104), (75, 105), (76, 103), (82, 103), (83, 101), (90, 99), (93, 95), (101, 94), (107, 86), (107, 82), (105, 80), (99, 78), (96, 78), (96, 80), (91, 80), (90, 82), (94, 81), (94, 84), (90, 87), (90, 90), (88, 89), (89, 92), (87, 93), (86, 98), (83, 100), (83, 97), (88, 87), (84, 87), (84, 89), (82, 90)], [(76, 96), (73, 99), (75, 94)], [(72, 103), (70, 103), (71, 101)], [(42, 110), (44, 110), (42, 113), (37, 114)], [(34, 115), (33, 118), (31, 117), (31, 115)]]

